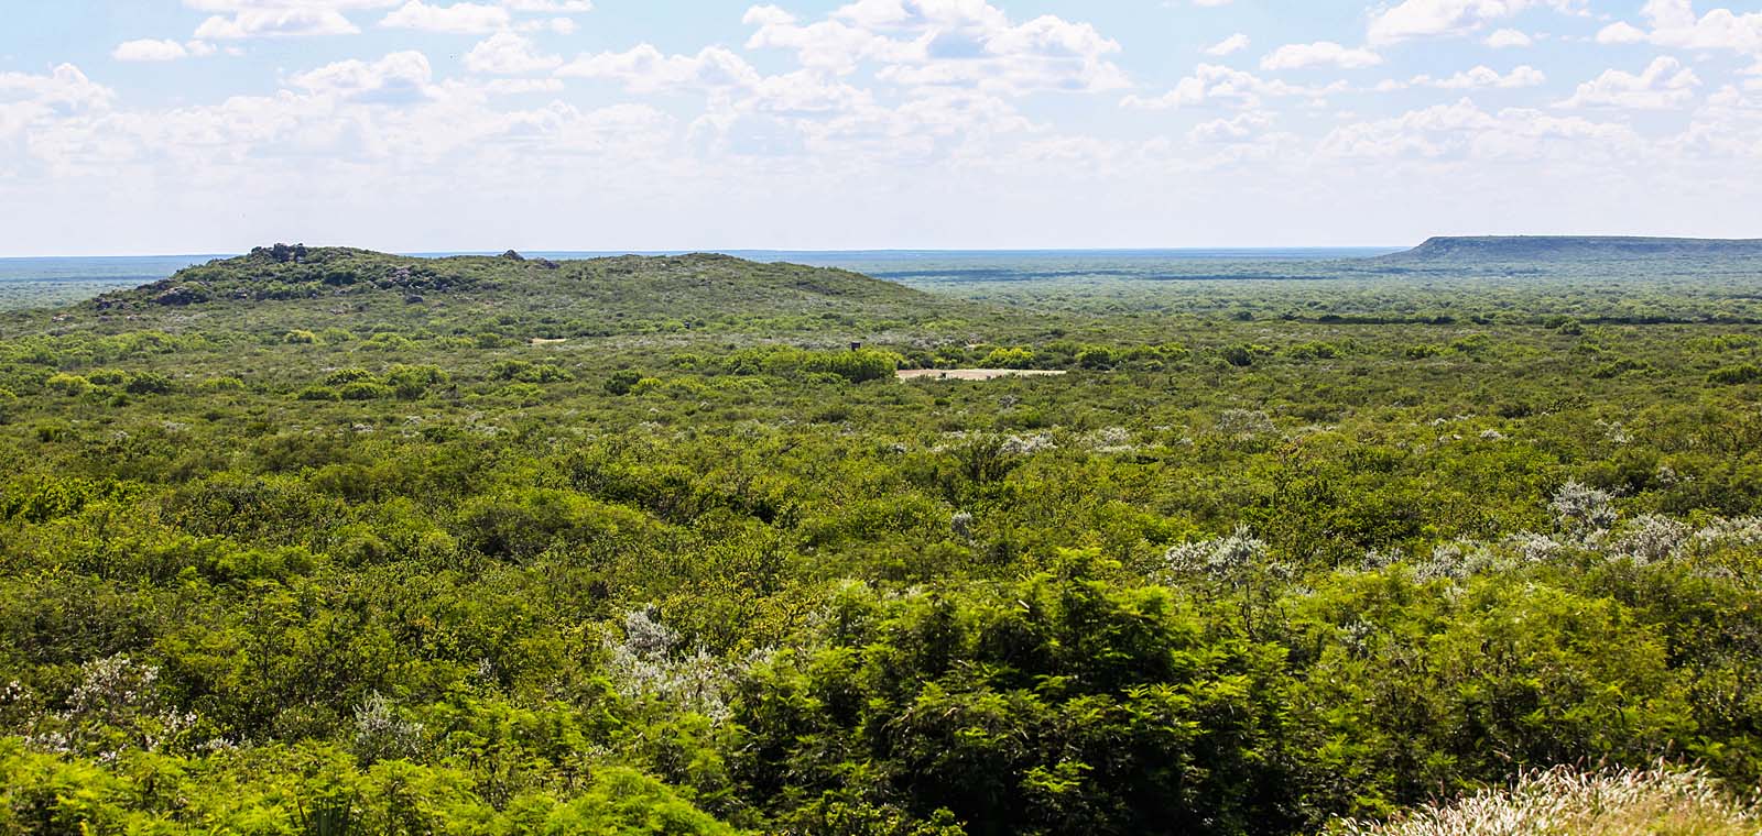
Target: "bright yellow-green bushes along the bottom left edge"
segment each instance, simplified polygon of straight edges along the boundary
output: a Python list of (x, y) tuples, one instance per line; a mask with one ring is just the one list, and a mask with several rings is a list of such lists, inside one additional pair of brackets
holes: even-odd
[(201, 759), (130, 753), (99, 764), (0, 739), (0, 834), (737, 832), (631, 769), (596, 769), (574, 783), (490, 804), (460, 771), (407, 760), (358, 767), (329, 746)]

